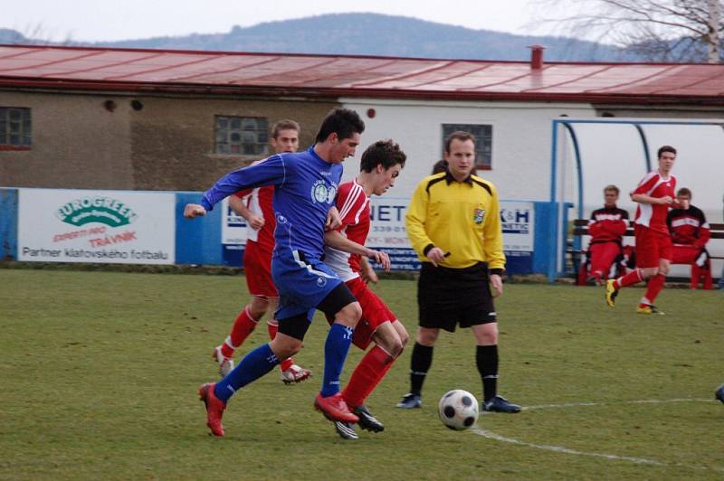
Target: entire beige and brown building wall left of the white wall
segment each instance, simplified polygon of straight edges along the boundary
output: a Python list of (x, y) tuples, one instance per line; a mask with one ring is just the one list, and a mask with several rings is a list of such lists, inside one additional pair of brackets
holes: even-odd
[[(116, 108), (104, 107), (113, 100)], [(138, 100), (143, 108), (132, 108)], [(0, 186), (203, 191), (256, 157), (214, 154), (214, 116), (300, 123), (300, 148), (335, 102), (194, 99), (0, 90), (0, 106), (31, 108), (29, 151), (0, 151)]]

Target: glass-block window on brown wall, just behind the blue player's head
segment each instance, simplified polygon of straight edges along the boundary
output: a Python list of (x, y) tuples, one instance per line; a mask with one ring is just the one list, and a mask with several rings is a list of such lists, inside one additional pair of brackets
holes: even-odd
[(268, 151), (266, 118), (216, 116), (216, 154), (265, 156)]

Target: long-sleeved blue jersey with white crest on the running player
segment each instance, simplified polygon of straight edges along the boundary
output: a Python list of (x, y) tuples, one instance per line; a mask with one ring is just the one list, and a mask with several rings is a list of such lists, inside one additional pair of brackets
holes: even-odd
[(274, 186), (274, 256), (300, 250), (319, 259), (324, 247), (324, 224), (334, 205), (342, 165), (322, 160), (310, 147), (295, 154), (277, 154), (256, 165), (224, 175), (204, 193), (201, 205), (214, 204), (242, 189)]

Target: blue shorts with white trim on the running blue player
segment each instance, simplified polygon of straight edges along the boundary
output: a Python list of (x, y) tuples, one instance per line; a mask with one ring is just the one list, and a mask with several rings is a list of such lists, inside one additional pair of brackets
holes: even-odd
[(314, 308), (343, 283), (327, 264), (319, 259), (305, 259), (299, 250), (292, 250), (291, 256), (274, 256), (271, 278), (279, 291), (277, 319), (307, 313), (311, 321)]

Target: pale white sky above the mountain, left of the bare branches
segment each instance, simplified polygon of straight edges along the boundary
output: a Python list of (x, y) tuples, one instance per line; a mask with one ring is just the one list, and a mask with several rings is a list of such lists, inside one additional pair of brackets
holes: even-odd
[[(3, 0), (0, 28), (62, 42), (133, 40), (333, 13), (405, 15), (472, 29), (530, 34), (540, 0)], [(454, 7), (452, 7), (454, 5)]]

